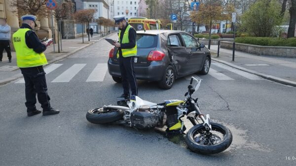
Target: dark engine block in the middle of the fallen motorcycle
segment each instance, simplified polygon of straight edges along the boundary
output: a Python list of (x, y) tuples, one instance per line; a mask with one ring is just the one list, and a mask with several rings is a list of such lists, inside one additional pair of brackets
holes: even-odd
[(157, 126), (159, 122), (157, 110), (150, 109), (149, 106), (141, 106), (131, 113), (131, 125), (137, 129), (150, 129)]

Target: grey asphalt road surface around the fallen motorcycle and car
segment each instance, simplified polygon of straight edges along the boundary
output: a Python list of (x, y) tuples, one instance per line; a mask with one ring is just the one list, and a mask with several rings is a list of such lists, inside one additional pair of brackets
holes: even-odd
[[(27, 117), (25, 85), (16, 83), (21, 80), (0, 87), (0, 166), (296, 165), (286, 160), (296, 157), (296, 88), (250, 79), (220, 64), (211, 66), (211, 74), (197, 75), (203, 80), (194, 96), (204, 114), (232, 131), (233, 142), (222, 153), (195, 154), (182, 136), (168, 139), (154, 130), (89, 123), (89, 109), (115, 104), (122, 94), (121, 85), (100, 65), (106, 64), (110, 49), (102, 40), (57, 62), (62, 65), (46, 75), (58, 115)], [(188, 83), (181, 78), (164, 91), (156, 83), (138, 81), (139, 96), (152, 102), (182, 100)]]

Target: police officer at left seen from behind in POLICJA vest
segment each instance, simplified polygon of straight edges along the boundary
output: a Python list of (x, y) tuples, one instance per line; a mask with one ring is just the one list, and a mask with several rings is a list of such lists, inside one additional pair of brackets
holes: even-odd
[(25, 79), (26, 107), (27, 115), (33, 116), (41, 113), (35, 106), (36, 94), (41, 107), (42, 115), (54, 115), (60, 111), (50, 106), (49, 96), (47, 94), (47, 85), (43, 65), (47, 64), (44, 51), (46, 43), (40, 42), (37, 34), (34, 32), (36, 25), (36, 16), (22, 16), (23, 24), (21, 28), (13, 34), (13, 45), (16, 52), (16, 63), (20, 67)]

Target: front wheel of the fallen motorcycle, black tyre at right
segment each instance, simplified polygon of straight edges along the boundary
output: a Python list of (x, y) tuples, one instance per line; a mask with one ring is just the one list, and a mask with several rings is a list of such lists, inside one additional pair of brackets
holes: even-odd
[(205, 155), (216, 154), (227, 149), (232, 142), (230, 130), (218, 123), (211, 123), (212, 130), (206, 132), (202, 124), (193, 126), (185, 136), (188, 148)]

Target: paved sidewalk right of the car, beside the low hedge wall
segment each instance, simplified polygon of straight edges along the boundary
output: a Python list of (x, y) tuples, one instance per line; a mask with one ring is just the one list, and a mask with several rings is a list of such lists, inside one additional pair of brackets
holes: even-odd
[(234, 62), (232, 50), (211, 45), (212, 59), (225, 65), (232, 66), (285, 85), (296, 86), (296, 58), (257, 56), (241, 51), (235, 51)]

